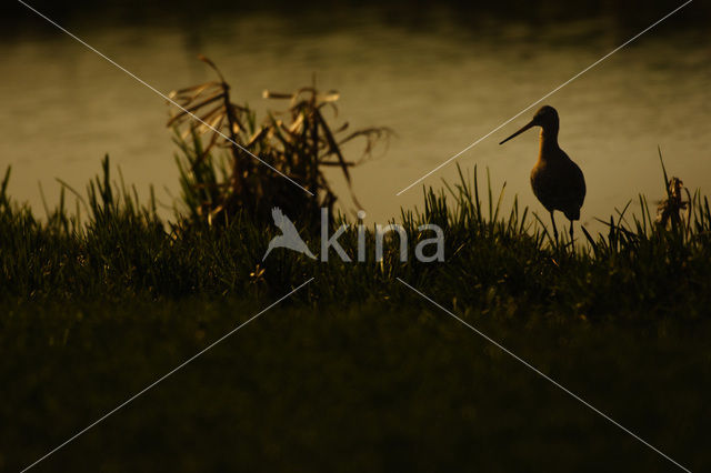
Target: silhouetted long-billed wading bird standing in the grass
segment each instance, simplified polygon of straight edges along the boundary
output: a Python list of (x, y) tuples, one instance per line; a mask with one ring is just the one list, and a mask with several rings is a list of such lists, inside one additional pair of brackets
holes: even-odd
[(542, 107), (533, 120), (501, 143), (537, 125), (541, 127), (541, 138), (538, 161), (531, 170), (531, 188), (551, 214), (555, 240), (558, 230), (553, 212), (558, 210), (570, 220), (572, 241), (573, 221), (580, 220), (580, 209), (585, 200), (585, 179), (578, 164), (558, 145), (559, 119), (555, 109)]

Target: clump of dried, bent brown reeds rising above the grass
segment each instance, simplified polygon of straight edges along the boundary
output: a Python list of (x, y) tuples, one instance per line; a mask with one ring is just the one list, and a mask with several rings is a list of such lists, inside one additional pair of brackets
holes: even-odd
[[(388, 128), (349, 131), (327, 120), (327, 108), (338, 113), (336, 91), (320, 93), (316, 84), (294, 93), (264, 91), (263, 97), (288, 101), (281, 112), (268, 112), (261, 123), (248, 105), (232, 102), (230, 85), (217, 66), (219, 80), (171, 92), (183, 109), (168, 121), (181, 150), (183, 200), (193, 218), (210, 224), (229, 222), (238, 213), (268, 221), (273, 207), (292, 217), (312, 220), (320, 208), (331, 212), (337, 197), (324, 167), (339, 167), (351, 189), (349, 169), (372, 154), (374, 145), (391, 135)], [(362, 138), (360, 160), (347, 160), (344, 143)], [(228, 153), (216, 155), (220, 149)], [(227, 158), (226, 158), (227, 157)], [(354, 195), (351, 190), (351, 197)]]

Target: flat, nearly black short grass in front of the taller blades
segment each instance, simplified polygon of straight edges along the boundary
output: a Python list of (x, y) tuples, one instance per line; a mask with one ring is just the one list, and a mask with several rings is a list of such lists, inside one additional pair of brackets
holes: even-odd
[[(665, 472), (430, 308), (284, 303), (37, 471)], [(0, 470), (19, 471), (261, 309), (26, 303), (0, 330)], [(711, 463), (711, 325), (467, 320), (690, 467)]]

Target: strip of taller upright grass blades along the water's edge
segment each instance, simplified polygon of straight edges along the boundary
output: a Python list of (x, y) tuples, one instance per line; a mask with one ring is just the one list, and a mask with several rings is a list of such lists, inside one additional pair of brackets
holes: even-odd
[[(395, 279), (401, 278), (463, 311), (495, 306), (525, 318), (708, 315), (711, 213), (705, 198), (695, 194), (687, 209), (671, 209), (665, 227), (654, 222), (640, 198), (641, 215), (613, 215), (605, 234), (593, 238), (579, 229), (578, 244), (555, 245), (538, 217), (515, 201), (504, 209), (479, 181), (475, 170), (462, 174), (455, 185), (428, 190), (422, 212), (403, 210), (399, 223), (408, 233), (407, 262), (400, 261), (397, 239), (385, 242), (382, 261), (375, 261), (370, 227), (362, 263), (344, 263), (333, 251), (328, 262), (320, 262), (289, 250), (276, 250), (262, 261), (269, 240), (279, 234), (271, 223), (243, 213), (219, 227), (180, 218), (161, 221), (153, 204), (141, 204), (130, 188), (112, 182), (104, 161), (103, 173), (77, 200), (76, 210), (66, 207), (63, 195), (47, 219), (12, 202), (3, 187), (0, 298), (10, 305), (196, 295), (268, 301), (313, 276), (297, 300), (409, 301), (411, 294)], [(334, 229), (344, 222), (350, 229), (339, 241), (356, 260), (356, 224), (338, 217), (331, 223)], [(415, 243), (432, 236), (418, 231), (423, 223), (443, 229), (444, 262), (414, 258)], [(318, 253), (318, 228), (299, 231)]]

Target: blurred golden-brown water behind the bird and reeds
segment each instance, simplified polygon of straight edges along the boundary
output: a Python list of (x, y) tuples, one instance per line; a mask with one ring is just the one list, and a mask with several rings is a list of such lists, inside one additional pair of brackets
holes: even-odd
[[(397, 133), (353, 171), (368, 221), (384, 222), (420, 204), (422, 185), (397, 192), (682, 2), (489, 3), (32, 4), (163, 92), (212, 79), (198, 53), (219, 64), (236, 101), (260, 111), (282, 105), (262, 90), (292, 91), (316, 74), (341, 93), (337, 122)], [(561, 147), (585, 173), (583, 223), (599, 229), (594, 217), (639, 192), (662, 197), (658, 145), (670, 174), (711, 192), (710, 11), (692, 2), (545, 100), (560, 113)], [(2, 13), (0, 168), (13, 168), (10, 193), (40, 210), (39, 182), (52, 205), (56, 178), (83, 190), (109, 153), (141, 197), (154, 184), (171, 214), (179, 187), (167, 103), (20, 3)], [(507, 208), (518, 194), (543, 212), (529, 187), (538, 133), (498, 145), (534, 110), (458, 162), (489, 168), (494, 188), (505, 181)], [(330, 175), (352, 210), (339, 172)], [(452, 163), (423, 183), (455, 177)]]

